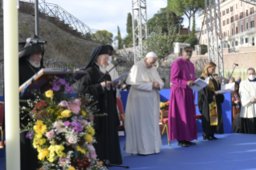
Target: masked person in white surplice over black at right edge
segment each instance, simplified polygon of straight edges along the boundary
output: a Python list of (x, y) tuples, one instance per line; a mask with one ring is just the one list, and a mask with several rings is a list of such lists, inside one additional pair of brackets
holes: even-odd
[(239, 87), (242, 102), (240, 112), (241, 132), (256, 134), (256, 79), (254, 68), (247, 70), (247, 78), (240, 83)]

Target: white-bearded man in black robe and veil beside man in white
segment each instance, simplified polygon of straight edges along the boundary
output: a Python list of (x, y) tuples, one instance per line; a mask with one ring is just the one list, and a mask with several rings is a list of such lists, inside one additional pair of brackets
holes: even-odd
[[(112, 83), (110, 75), (105, 75), (104, 79), (100, 78), (106, 72), (108, 66), (108, 46), (95, 47), (82, 79), (81, 93), (93, 95), (95, 101), (98, 101), (96, 107), (100, 109), (99, 114), (107, 113), (108, 116), (95, 116), (95, 146), (98, 159), (108, 160), (111, 164), (122, 164), (120, 153), (120, 142), (118, 137), (118, 126), (120, 119), (116, 110), (116, 90), (117, 83)], [(107, 84), (105, 84), (107, 80)], [(106, 121), (107, 119), (107, 121)], [(107, 146), (108, 144), (108, 146)]]

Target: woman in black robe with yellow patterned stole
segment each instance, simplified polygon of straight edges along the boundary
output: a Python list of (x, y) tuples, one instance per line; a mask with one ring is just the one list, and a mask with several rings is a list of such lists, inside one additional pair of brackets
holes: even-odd
[[(217, 140), (214, 133), (223, 133), (223, 118), (221, 103), (224, 95), (217, 95), (214, 91), (221, 90), (221, 86), (212, 74), (209, 73), (210, 67), (216, 67), (213, 62), (206, 65), (201, 79), (209, 78), (209, 85), (198, 91), (197, 103), (201, 112), (201, 126), (203, 129), (204, 140)], [(207, 71), (208, 70), (208, 71)], [(214, 68), (215, 71), (215, 68)]]

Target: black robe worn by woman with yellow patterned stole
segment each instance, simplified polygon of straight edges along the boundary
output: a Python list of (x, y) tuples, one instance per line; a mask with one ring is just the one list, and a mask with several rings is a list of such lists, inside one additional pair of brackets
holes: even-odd
[[(201, 77), (201, 79), (205, 79)], [(213, 82), (214, 90), (221, 90), (220, 84), (215, 79), (211, 79)], [(210, 125), (209, 118), (209, 103), (213, 102), (213, 96), (216, 98), (217, 105), (217, 126)], [(213, 135), (214, 133), (223, 133), (223, 118), (221, 103), (224, 101), (224, 95), (214, 95), (214, 91), (210, 91), (207, 87), (198, 91), (197, 103), (199, 111), (201, 112), (201, 126), (205, 135)]]

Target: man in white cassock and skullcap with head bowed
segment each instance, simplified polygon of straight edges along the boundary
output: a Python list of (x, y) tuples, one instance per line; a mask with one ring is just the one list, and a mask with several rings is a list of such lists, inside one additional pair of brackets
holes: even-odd
[(160, 152), (160, 95), (164, 86), (154, 64), (157, 56), (149, 52), (145, 59), (133, 65), (126, 80), (132, 85), (125, 111), (127, 153), (148, 155)]

